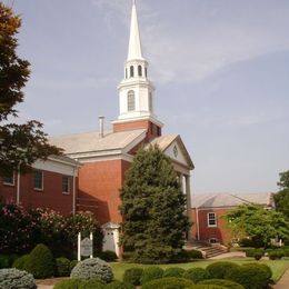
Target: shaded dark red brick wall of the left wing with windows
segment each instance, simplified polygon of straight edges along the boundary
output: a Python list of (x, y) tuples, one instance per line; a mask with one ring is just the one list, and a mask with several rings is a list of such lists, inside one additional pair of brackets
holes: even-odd
[[(72, 177), (70, 195), (62, 193), (62, 175), (43, 171), (43, 190), (33, 188), (33, 175), (28, 173), (20, 177), (20, 203), (26, 209), (50, 208), (67, 216), (72, 212), (73, 193)], [(3, 185), (0, 178), (0, 198), (7, 202), (17, 201), (17, 175), (14, 186)]]

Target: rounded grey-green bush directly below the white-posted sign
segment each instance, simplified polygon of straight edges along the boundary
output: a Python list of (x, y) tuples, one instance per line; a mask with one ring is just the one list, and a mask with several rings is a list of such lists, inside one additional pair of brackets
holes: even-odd
[(110, 282), (113, 273), (106, 261), (99, 258), (91, 258), (78, 262), (72, 269), (70, 277), (74, 279), (100, 279), (104, 282)]

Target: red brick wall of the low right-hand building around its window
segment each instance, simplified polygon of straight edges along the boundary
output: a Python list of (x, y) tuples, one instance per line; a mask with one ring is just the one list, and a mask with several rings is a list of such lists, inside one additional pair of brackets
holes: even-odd
[[(201, 241), (209, 241), (210, 238), (216, 238), (219, 240), (220, 243), (227, 245), (231, 241), (231, 233), (228, 229), (227, 221), (223, 216), (230, 209), (206, 209), (206, 210), (198, 210), (199, 215), (199, 240)], [(217, 217), (217, 227), (209, 227), (208, 226), (208, 213), (215, 212)], [(193, 221), (193, 226), (191, 227), (191, 233), (195, 239), (197, 239), (197, 212), (196, 209), (191, 210), (191, 217)]]

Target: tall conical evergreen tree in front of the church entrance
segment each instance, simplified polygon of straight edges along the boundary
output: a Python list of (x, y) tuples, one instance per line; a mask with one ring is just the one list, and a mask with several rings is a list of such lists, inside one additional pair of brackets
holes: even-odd
[(122, 245), (137, 262), (172, 260), (185, 243), (186, 197), (171, 160), (158, 147), (138, 151), (120, 191)]

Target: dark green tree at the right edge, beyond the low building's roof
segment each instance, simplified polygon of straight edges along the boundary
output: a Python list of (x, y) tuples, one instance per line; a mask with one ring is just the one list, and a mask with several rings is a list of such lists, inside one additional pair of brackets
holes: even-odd
[(289, 219), (289, 170), (280, 172), (280, 180), (277, 183), (280, 190), (275, 195), (276, 209)]

